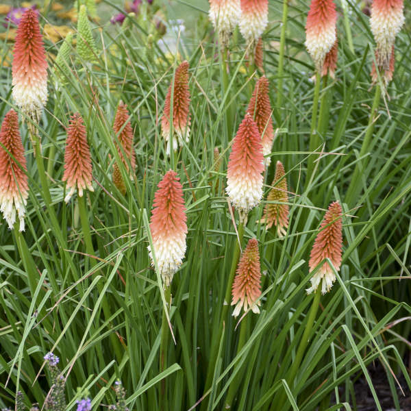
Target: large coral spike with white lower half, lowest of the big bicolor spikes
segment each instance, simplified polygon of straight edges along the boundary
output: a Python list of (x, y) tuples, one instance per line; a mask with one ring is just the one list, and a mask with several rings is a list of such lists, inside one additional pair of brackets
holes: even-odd
[[(186, 220), (182, 185), (177, 173), (169, 170), (155, 192), (150, 221), (155, 260), (164, 288), (170, 286), (186, 253)], [(153, 262), (153, 253), (150, 247), (148, 249)]]

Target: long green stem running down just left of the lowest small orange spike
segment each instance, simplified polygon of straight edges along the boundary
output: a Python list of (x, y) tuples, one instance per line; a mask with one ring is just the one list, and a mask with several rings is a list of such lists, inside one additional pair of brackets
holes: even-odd
[[(214, 367), (216, 364), (217, 360), (217, 354), (219, 350), (219, 343), (220, 343), (220, 338), (221, 338), (221, 333), (223, 332), (223, 323), (225, 321), (225, 318), (227, 317), (227, 312), (229, 308), (229, 301), (231, 297), (231, 292), (232, 292), (232, 285), (234, 281), (234, 277), (236, 275), (236, 269), (237, 269), (237, 264), (238, 264), (238, 259), (240, 258), (240, 245), (242, 242), (242, 238), (244, 236), (244, 225), (240, 223), (238, 225), (238, 238), (236, 238), (236, 245), (234, 248), (234, 253), (233, 253), (233, 259), (232, 259), (232, 266), (229, 272), (229, 279), (227, 282), (227, 288), (225, 290), (225, 297), (223, 301), (223, 309), (221, 310), (221, 317), (220, 317), (220, 323), (219, 323), (219, 328), (218, 328), (218, 334), (214, 335), (215, 332), (212, 335), (212, 345), (211, 345), (211, 351), (210, 351), (210, 360), (208, 362), (208, 371), (207, 371), (207, 378), (206, 378), (206, 386), (204, 389), (204, 392), (210, 388), (211, 383), (212, 383), (212, 376), (214, 374)], [(214, 328), (216, 330), (216, 328)], [(206, 406), (206, 401), (203, 401), (204, 407)]]

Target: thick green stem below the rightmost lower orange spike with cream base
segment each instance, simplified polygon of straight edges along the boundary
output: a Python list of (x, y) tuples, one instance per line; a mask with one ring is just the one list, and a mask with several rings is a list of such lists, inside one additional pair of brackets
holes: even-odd
[[(294, 361), (292, 361), (290, 372), (288, 373), (288, 377), (286, 377), (286, 382), (292, 390), (292, 386), (294, 385), (295, 375), (297, 375), (297, 371), (299, 370), (299, 366), (301, 364), (301, 360), (303, 359), (304, 353), (306, 353), (307, 345), (310, 341), (310, 334), (312, 330), (312, 325), (314, 324), (314, 320), (316, 318), (316, 313), (319, 309), (321, 298), (321, 287), (316, 289), (314, 300), (312, 301), (312, 306), (310, 309), (310, 313), (308, 314), (308, 320), (306, 323), (306, 327), (304, 329), (303, 336), (299, 343), (299, 347), (297, 349), (297, 354), (295, 355)], [(279, 401), (276, 401), (275, 404), (277, 405), (278, 410), (287, 411), (290, 407), (290, 403), (286, 401), (286, 393), (282, 390), (282, 393), (279, 397)]]

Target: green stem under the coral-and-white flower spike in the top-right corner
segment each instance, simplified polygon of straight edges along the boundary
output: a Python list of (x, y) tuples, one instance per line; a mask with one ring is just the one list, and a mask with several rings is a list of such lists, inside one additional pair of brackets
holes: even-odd
[[(375, 116), (377, 114), (380, 99), (381, 99), (381, 88), (379, 87), (379, 85), (377, 85), (375, 87), (374, 101), (373, 101), (373, 106), (371, 108), (369, 123), (366, 129), (364, 140), (362, 140), (360, 158), (363, 155), (365, 155), (366, 151), (369, 149), (370, 140), (371, 140), (371, 137), (373, 136), (373, 131), (374, 131)], [(356, 165), (356, 169), (354, 170), (353, 176), (351, 178), (351, 182), (349, 184), (349, 188), (347, 190), (347, 196), (345, 197), (345, 202), (348, 204), (349, 208), (355, 206), (354, 199), (358, 197), (358, 194), (361, 191), (359, 175), (360, 175), (360, 169), (361, 168), (364, 169), (365, 166), (366, 166), (366, 159), (362, 160), (362, 166), (360, 166), (360, 163), (358, 162)]]

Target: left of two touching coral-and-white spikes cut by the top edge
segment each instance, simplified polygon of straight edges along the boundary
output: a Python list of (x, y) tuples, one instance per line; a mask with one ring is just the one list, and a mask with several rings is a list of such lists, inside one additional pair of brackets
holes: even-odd
[(240, 0), (210, 0), (208, 16), (214, 29), (219, 33), (221, 45), (228, 47), (232, 32), (240, 21)]

